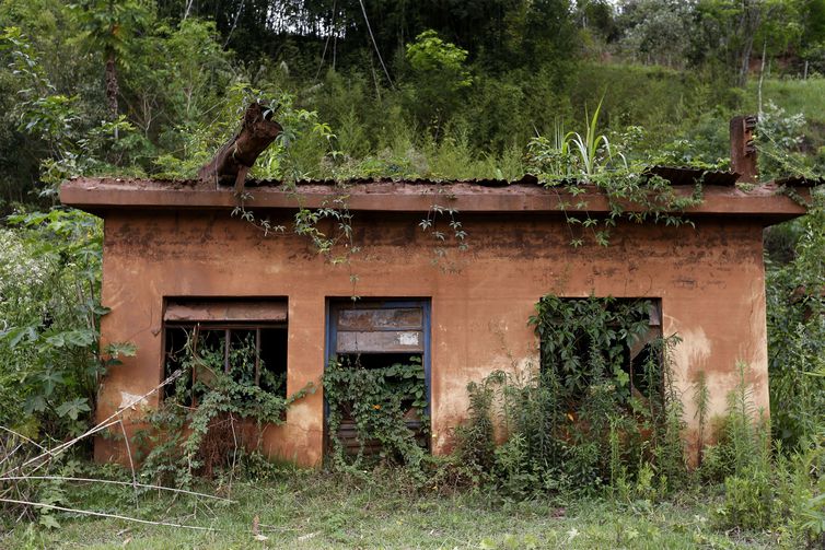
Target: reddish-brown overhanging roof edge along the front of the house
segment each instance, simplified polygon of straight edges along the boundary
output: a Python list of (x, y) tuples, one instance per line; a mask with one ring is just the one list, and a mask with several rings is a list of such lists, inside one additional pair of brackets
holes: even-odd
[[(485, 186), (473, 182), (404, 182), (377, 179), (369, 183), (306, 183), (288, 188), (271, 183), (251, 187), (245, 208), (288, 209), (329, 208), (341, 202), (351, 211), (429, 212), (433, 208), (479, 213), (555, 213), (558, 215), (606, 214), (611, 204), (604, 191), (595, 186), (580, 186), (573, 195), (563, 187), (544, 187), (514, 183), (508, 186)], [(728, 186), (705, 186), (702, 202), (684, 211), (694, 215), (763, 218), (766, 224), (803, 215), (806, 208), (782, 194), (783, 186), (768, 183), (744, 190)], [(805, 186), (792, 187), (803, 201), (811, 198)], [(689, 197), (693, 186), (675, 186), (677, 196)], [(341, 199), (345, 199), (344, 201)], [(74, 178), (60, 186), (63, 204), (98, 215), (113, 209), (138, 210), (226, 210), (241, 204), (231, 189), (216, 189), (214, 184), (197, 180), (163, 182), (152, 179)], [(574, 208), (584, 203), (581, 209)], [(627, 212), (640, 212), (643, 206), (625, 203)], [(674, 212), (676, 213), (676, 212)]]

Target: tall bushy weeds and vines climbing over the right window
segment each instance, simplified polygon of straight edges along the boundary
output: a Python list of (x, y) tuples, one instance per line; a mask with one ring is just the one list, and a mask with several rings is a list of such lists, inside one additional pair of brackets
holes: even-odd
[[(469, 421), (456, 431), (457, 449), (479, 480), (518, 499), (605, 487), (631, 499), (667, 491), (686, 476), (681, 401), (669, 374), (676, 339), (654, 339), (640, 370), (632, 377), (625, 370), (625, 353), (647, 331), (649, 307), (542, 299), (531, 318), (541, 370), (498, 372), (468, 386)], [(506, 438), (493, 450), (498, 414)]]

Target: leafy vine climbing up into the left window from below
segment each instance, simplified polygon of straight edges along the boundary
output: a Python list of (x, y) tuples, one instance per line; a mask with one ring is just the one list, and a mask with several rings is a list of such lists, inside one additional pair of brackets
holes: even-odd
[(254, 460), (265, 424), (282, 424), (289, 406), (314, 391), (307, 385), (284, 397), (286, 379), (259, 359), (256, 382), (253, 340), (233, 343), (228, 354), (224, 346), (209, 346), (197, 329), (188, 335), (181, 367), (167, 372), (173, 390), (149, 411), (151, 428), (137, 437), (142, 478), (188, 487), (199, 475), (211, 478), (222, 469), (234, 475), (244, 457)]

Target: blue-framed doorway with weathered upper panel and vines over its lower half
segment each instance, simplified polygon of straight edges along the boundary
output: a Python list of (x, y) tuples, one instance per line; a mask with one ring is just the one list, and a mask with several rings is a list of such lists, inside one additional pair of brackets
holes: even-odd
[[(380, 379), (381, 393), (397, 390), (404, 424), (423, 447), (429, 447), (429, 302), (419, 300), (333, 301), (327, 335), (327, 358), (338, 367), (381, 371), (377, 378), (363, 378)], [(369, 388), (361, 396), (375, 399)], [(336, 419), (337, 433), (328, 436), (337, 436), (348, 454), (382, 453), (380, 441), (362, 441), (364, 420), (359, 424), (358, 409), (353, 402), (336, 403), (341, 418)]]

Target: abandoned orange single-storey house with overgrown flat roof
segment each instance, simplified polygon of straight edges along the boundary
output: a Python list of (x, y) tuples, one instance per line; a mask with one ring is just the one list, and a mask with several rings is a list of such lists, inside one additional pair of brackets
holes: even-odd
[[(683, 195), (704, 177), (701, 203), (684, 213), (692, 223), (620, 221), (609, 246), (588, 238), (570, 244), (571, 232), (581, 230), (568, 223), (565, 204), (584, 201), (576, 215), (594, 219), (609, 211), (606, 197), (589, 186), (571, 197), (530, 176), (300, 182), (297, 190), (247, 184), (245, 208), (271, 226), (289, 227), (299, 206), (346, 200), (359, 249), (345, 262), (334, 261), (337, 253), (318, 254), (304, 235), (265, 234), (232, 215), (239, 199), (214, 183), (72, 179), (60, 189), (62, 202), (104, 219), (102, 302), (111, 313), (102, 321), (103, 343), (137, 347), (105, 376), (96, 414), (101, 420), (125, 408), (127, 425), (139, 426), (144, 408), (164, 398), (151, 390), (169, 373), (174, 350), (198, 327), (226, 349), (234, 339), (253, 341), (269, 378), (286, 378), (281, 391), (317, 388), (288, 409), (282, 424), (264, 430), (269, 456), (319, 464), (328, 436), (321, 377), (341, 354), (364, 354), (372, 363), (420, 360), (428, 444), (446, 453), (467, 411), (467, 383), (537, 365), (539, 342), (527, 319), (542, 296), (609, 295), (650, 300), (651, 330), (681, 337), (673, 367), (686, 396), (685, 438), (695, 444), (689, 396), (698, 372), (710, 414), (723, 413), (737, 362), (751, 366), (756, 405), (768, 409), (763, 229), (805, 212), (777, 192), (781, 183), (737, 187), (747, 172), (739, 163), (734, 157), (739, 174), (655, 168)], [(806, 197), (805, 183), (795, 184)], [(453, 242), (451, 215), (466, 232), (466, 250)], [(422, 220), (434, 225), (422, 230)], [(335, 223), (322, 220), (318, 227), (328, 232)], [(257, 368), (255, 379), (263, 381)], [(123, 442), (96, 442), (97, 460), (123, 459), (124, 452)]]

